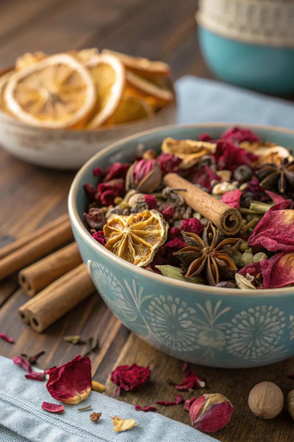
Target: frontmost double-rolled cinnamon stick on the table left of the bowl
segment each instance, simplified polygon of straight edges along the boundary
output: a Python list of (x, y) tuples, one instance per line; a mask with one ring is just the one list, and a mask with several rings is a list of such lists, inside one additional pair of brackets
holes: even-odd
[(28, 312), (33, 330), (41, 333), (94, 290), (86, 264), (82, 263), (52, 282), (22, 308)]

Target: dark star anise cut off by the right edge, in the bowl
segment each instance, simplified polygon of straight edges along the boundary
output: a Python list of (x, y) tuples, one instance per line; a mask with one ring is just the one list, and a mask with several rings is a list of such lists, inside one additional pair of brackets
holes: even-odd
[(281, 164), (264, 164), (261, 169), (255, 172), (259, 179), (260, 186), (268, 190), (284, 193), (294, 189), (294, 160), (289, 163), (287, 158)]

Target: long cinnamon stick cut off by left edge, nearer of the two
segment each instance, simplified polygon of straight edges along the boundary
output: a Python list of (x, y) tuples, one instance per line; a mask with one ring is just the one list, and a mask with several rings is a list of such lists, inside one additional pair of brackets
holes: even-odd
[(0, 260), (0, 280), (26, 267), (73, 237), (69, 219)]

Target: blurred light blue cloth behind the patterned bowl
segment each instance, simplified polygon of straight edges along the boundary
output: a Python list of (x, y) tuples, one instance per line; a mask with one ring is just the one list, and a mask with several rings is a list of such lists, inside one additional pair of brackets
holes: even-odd
[(294, 105), (217, 81), (184, 76), (175, 82), (178, 123), (229, 122), (294, 129)]

